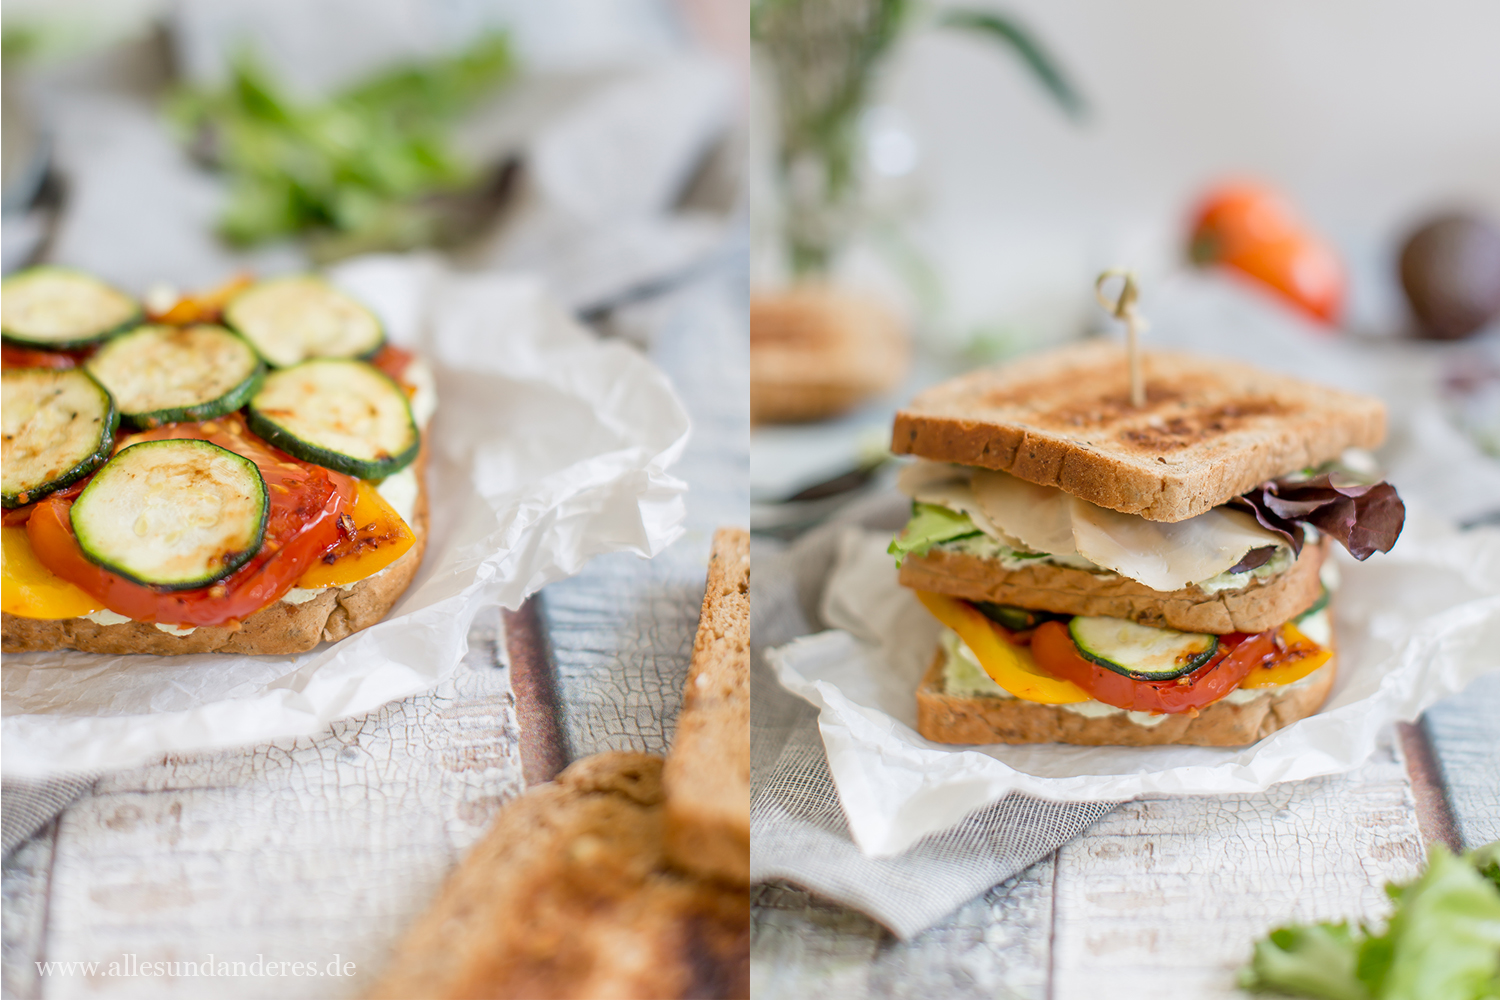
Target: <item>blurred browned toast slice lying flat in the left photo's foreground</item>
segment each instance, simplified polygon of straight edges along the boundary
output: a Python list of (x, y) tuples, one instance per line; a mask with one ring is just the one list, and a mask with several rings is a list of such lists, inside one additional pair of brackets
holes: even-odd
[(664, 819), (638, 753), (508, 802), (369, 997), (748, 997), (748, 891), (672, 870)]

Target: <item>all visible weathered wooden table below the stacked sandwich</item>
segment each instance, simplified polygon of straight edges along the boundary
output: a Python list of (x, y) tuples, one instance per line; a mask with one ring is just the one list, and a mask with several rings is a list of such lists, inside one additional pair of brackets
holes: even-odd
[(1500, 673), (1398, 727), (1362, 768), (1258, 795), (1128, 802), (900, 942), (788, 886), (753, 895), (758, 1000), (810, 996), (1246, 997), (1251, 943), (1288, 921), (1389, 913), (1431, 843), (1500, 840)]

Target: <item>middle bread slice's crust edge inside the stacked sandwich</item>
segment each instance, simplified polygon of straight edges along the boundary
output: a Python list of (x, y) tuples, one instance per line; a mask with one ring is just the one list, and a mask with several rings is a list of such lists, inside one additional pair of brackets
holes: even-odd
[(1258, 633), (1311, 607), (1322, 592), (1318, 570), (1329, 540), (1302, 546), (1298, 561), (1269, 580), (1238, 591), (1206, 594), (1194, 586), (1164, 594), (1119, 574), (1100, 576), (1053, 564), (1006, 570), (999, 559), (930, 549), (902, 561), (900, 582), (968, 601), (993, 601), (1038, 612), (1128, 618), (1142, 625), (1179, 631)]

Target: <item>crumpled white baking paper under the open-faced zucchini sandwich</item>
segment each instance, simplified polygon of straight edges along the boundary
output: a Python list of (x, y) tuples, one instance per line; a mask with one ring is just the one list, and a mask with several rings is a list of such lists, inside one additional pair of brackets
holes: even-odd
[(591, 336), (530, 277), (453, 274), (429, 256), (332, 277), (436, 375), (417, 579), (382, 622), (300, 657), (8, 655), (6, 775), (316, 733), (447, 676), (482, 607), (519, 607), (591, 556), (652, 556), (681, 535), (686, 484), (668, 469), (688, 420), (638, 351)]

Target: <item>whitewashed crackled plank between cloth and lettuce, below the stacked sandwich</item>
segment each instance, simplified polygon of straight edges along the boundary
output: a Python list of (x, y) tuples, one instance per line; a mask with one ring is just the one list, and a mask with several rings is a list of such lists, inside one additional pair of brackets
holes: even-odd
[(1394, 744), (1347, 775), (1260, 795), (1143, 799), (1059, 850), (1058, 1000), (1242, 997), (1234, 970), (1288, 921), (1378, 919), (1425, 859)]

